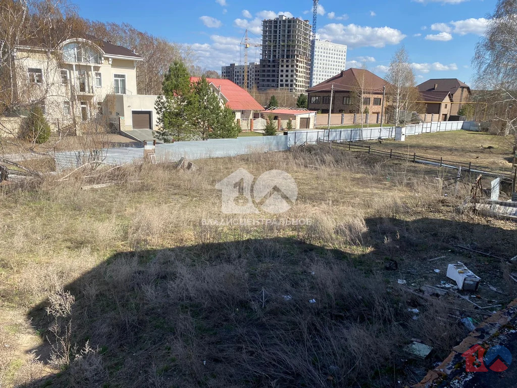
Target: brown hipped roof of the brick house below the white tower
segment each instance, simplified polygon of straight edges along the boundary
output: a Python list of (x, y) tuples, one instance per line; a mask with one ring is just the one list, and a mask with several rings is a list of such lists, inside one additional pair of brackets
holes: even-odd
[(332, 84), (334, 84), (334, 90), (337, 92), (353, 91), (359, 87), (363, 79), (364, 89), (367, 92), (382, 92), (383, 86), (388, 85), (387, 81), (377, 77), (371, 71), (352, 68), (311, 87), (307, 92), (330, 92)]

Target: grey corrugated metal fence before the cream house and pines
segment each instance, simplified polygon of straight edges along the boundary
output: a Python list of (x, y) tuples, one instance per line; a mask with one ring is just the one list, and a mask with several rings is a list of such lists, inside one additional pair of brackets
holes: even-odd
[[(264, 136), (238, 139), (214, 139), (184, 141), (156, 146), (158, 163), (188, 159), (220, 158), (259, 152), (287, 151), (287, 136)], [(107, 165), (143, 163), (144, 148), (103, 148), (95, 151), (71, 151), (55, 153), (56, 171), (78, 168), (89, 162), (99, 161)]]

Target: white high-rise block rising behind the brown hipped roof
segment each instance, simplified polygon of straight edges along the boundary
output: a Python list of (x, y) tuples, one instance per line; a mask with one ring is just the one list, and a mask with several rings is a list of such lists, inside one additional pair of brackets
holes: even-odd
[(317, 39), (314, 44), (311, 87), (328, 80), (346, 68), (346, 46)]

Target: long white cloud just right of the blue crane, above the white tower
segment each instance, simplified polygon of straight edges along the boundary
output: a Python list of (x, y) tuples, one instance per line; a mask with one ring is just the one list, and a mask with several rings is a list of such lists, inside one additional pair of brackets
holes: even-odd
[(383, 48), (387, 44), (399, 44), (406, 35), (391, 27), (363, 27), (355, 24), (331, 23), (318, 29), (321, 39), (344, 43), (349, 47)]

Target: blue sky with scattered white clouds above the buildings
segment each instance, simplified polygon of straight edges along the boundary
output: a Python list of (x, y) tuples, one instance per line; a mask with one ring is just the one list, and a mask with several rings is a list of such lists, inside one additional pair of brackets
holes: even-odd
[[(469, 83), (470, 61), (495, 0), (392, 0), (343, 2), (321, 0), (317, 34), (348, 45), (347, 67), (368, 68), (383, 76), (391, 56), (404, 45), (417, 82), (459, 78)], [(248, 28), (260, 40), (262, 19), (278, 14), (310, 19), (312, 2), (287, 0), (190, 0), (118, 2), (76, 0), (81, 16), (100, 21), (128, 22), (136, 28), (177, 43), (190, 44), (199, 65), (221, 71), (221, 65), (244, 61), (239, 44)], [(134, 7), (133, 7), (134, 6)], [(136, 11), (138, 9), (138, 11)], [(98, 10), (102, 10), (99, 13)], [(249, 50), (249, 61), (260, 49)]]

